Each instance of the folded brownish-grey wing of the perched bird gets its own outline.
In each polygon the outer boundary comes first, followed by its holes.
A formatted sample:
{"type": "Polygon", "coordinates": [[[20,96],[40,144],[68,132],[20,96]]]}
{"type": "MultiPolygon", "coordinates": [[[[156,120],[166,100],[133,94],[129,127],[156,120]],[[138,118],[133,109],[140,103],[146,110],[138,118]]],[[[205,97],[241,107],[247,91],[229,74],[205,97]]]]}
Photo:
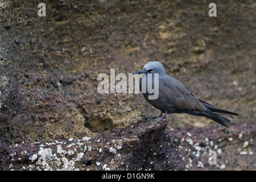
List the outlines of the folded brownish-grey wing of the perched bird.
{"type": "MultiPolygon", "coordinates": [[[[159,79],[160,80],[160,79],[159,79]]],[[[168,104],[176,106],[178,109],[205,111],[203,103],[183,85],[180,81],[170,76],[161,79],[159,90],[167,98],[168,104]]]]}

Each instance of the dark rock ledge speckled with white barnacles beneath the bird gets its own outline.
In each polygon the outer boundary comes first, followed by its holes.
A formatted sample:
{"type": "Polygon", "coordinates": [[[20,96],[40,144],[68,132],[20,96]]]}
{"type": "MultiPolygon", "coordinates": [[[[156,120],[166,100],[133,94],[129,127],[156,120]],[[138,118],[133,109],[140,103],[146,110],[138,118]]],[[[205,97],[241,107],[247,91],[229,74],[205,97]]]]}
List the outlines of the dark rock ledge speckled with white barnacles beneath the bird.
{"type": "Polygon", "coordinates": [[[1,143],[5,170],[202,170],[255,168],[255,127],[166,130],[159,118],[96,137],[1,143]],[[205,132],[206,131],[206,132],[205,132]],[[221,136],[221,137],[219,137],[221,136]],[[213,153],[214,152],[214,153],[213,153]],[[216,159],[213,160],[213,156],[216,159]],[[214,163],[215,161],[215,163],[214,163]]]}

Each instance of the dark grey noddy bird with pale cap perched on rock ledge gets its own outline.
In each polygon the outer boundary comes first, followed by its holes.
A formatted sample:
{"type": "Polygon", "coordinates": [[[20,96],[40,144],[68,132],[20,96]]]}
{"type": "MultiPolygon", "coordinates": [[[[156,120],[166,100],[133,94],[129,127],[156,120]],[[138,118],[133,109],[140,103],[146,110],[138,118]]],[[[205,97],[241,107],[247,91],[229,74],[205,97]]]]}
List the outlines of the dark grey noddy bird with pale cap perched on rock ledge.
{"type": "Polygon", "coordinates": [[[142,90],[142,86],[147,86],[148,74],[150,73],[152,74],[150,77],[152,85],[150,86],[154,89],[154,78],[156,77],[154,75],[158,73],[159,79],[156,80],[158,81],[159,86],[158,98],[151,100],[148,99],[148,96],[152,95],[152,92],[148,92],[148,86],[145,89],[146,92],[142,92],[142,94],[152,106],[161,111],[159,117],[162,117],[164,113],[162,121],[166,118],[167,113],[186,113],[206,117],[223,126],[229,127],[230,121],[226,117],[233,118],[232,115],[239,115],[227,110],[218,109],[208,102],[193,96],[193,94],[180,81],[166,75],[163,65],[158,61],[148,62],[144,65],[142,71],[134,72],[133,74],[135,73],[144,73],[142,78],[140,78],[140,90],[142,90]],[[146,79],[143,79],[143,77],[146,77],[146,79]],[[146,84],[143,84],[143,81],[145,80],[146,84]]]}

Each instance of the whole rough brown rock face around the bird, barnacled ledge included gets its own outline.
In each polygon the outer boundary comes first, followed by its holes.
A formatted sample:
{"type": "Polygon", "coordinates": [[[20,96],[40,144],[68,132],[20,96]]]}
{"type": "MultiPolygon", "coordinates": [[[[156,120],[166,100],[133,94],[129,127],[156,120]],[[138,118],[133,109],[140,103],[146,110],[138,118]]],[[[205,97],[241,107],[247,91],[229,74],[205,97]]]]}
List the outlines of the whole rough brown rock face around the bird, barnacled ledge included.
{"type": "Polygon", "coordinates": [[[0,169],[255,169],[253,1],[216,1],[217,17],[203,2],[45,3],[40,17],[36,1],[0,2],[0,169]],[[167,125],[141,94],[97,92],[99,73],[154,60],[241,117],[167,125]]]}

